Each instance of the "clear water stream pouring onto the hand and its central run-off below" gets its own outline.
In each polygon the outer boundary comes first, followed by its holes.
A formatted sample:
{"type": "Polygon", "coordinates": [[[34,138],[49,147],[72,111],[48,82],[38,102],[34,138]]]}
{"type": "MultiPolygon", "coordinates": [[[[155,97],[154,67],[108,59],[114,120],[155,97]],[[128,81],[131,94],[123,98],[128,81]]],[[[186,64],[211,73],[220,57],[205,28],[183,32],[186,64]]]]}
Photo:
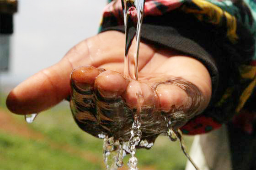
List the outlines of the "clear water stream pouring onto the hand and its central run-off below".
{"type": "MultiPolygon", "coordinates": [[[[125,30],[125,57],[124,57],[124,76],[138,80],[138,62],[139,62],[139,42],[140,31],[144,13],[144,0],[122,0],[123,17],[124,17],[124,30],[125,30]],[[136,27],[136,31],[135,31],[136,27]],[[128,52],[133,41],[133,37],[136,37],[136,50],[134,54],[134,71],[131,67],[131,61],[129,61],[128,52]]],[[[134,114],[133,125],[131,130],[131,137],[129,139],[129,147],[131,158],[128,161],[129,170],[139,170],[137,167],[138,160],[135,157],[136,145],[139,144],[141,139],[140,130],[140,108],[141,108],[141,95],[138,95],[137,112],[134,114]]]]}

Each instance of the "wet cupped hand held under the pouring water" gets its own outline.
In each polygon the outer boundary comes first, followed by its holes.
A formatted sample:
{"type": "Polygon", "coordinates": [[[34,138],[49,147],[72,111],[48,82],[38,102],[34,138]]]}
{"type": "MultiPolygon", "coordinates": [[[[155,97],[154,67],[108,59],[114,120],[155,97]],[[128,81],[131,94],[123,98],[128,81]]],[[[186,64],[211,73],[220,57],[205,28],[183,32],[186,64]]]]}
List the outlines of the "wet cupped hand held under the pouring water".
{"type": "Polygon", "coordinates": [[[123,76],[124,38],[120,32],[107,31],[80,42],[60,62],[14,88],[7,107],[17,114],[38,113],[67,98],[71,91],[71,109],[76,122],[85,124],[80,124],[83,130],[118,137],[124,127],[118,124],[132,122],[139,106],[138,93],[143,96],[144,135],[163,132],[163,115],[176,119],[175,128],[179,128],[203,112],[211,97],[211,79],[201,62],[142,42],[139,81],[135,82],[123,76]],[[147,123],[152,118],[159,121],[150,126],[147,123]]]}

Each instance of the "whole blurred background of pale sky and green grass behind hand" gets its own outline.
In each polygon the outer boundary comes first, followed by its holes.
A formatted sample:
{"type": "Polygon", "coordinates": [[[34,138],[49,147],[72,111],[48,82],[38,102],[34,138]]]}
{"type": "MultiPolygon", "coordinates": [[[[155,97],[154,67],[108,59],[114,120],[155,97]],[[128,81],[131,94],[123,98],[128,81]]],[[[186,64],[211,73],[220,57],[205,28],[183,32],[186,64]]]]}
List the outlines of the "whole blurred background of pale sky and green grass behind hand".
{"type": "MultiPolygon", "coordinates": [[[[58,62],[76,43],[96,35],[106,1],[18,1],[17,12],[11,15],[13,33],[0,34],[0,170],[105,169],[102,139],[76,126],[68,102],[27,124],[23,116],[7,110],[5,98],[17,84],[58,62]]],[[[192,137],[185,137],[187,148],[191,142],[192,137]]],[[[179,143],[165,136],[152,149],[140,149],[136,155],[140,170],[182,170],[186,164],[179,143]]],[[[121,169],[128,169],[128,157],[121,169]]]]}

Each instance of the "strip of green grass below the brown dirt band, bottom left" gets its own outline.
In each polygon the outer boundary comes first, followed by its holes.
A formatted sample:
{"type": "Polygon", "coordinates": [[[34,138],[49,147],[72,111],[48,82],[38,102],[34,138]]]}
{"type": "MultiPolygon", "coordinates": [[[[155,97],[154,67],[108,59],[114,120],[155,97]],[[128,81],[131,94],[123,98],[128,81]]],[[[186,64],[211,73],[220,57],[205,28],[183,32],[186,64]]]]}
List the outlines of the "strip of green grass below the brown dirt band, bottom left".
{"type": "Polygon", "coordinates": [[[64,150],[53,149],[48,144],[0,132],[1,170],[83,170],[101,169],[64,150]]]}

